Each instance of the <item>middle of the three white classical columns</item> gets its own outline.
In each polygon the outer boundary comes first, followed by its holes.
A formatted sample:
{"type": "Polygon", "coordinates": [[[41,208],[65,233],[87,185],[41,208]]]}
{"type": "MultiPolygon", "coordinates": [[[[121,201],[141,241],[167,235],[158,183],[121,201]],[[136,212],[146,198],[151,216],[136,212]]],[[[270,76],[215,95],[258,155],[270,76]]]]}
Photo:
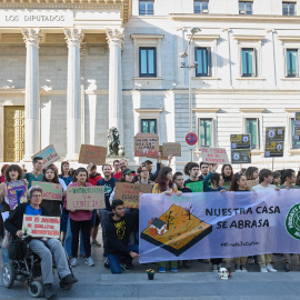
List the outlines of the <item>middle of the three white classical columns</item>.
{"type": "Polygon", "coordinates": [[[64,29],[68,43],[68,87],[67,87],[67,156],[70,161],[79,158],[81,144],[81,98],[80,98],[80,29],[64,29]]]}

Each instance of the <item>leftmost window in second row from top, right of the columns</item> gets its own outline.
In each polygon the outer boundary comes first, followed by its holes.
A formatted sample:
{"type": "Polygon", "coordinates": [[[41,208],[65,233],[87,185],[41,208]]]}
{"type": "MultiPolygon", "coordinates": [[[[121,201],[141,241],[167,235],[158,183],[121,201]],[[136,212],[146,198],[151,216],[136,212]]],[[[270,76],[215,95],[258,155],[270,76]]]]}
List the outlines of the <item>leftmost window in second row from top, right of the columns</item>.
{"type": "Polygon", "coordinates": [[[157,77],[157,48],[140,47],[140,77],[157,77]]]}

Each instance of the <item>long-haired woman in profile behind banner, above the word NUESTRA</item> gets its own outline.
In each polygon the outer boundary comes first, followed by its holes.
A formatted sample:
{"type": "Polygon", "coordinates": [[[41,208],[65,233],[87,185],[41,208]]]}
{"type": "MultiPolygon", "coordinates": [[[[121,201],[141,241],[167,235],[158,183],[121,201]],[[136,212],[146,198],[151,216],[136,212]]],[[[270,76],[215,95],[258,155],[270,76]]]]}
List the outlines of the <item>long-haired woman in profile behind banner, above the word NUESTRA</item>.
{"type": "MultiPolygon", "coordinates": [[[[230,191],[249,191],[247,177],[242,173],[236,173],[230,184],[230,191]]],[[[253,257],[249,257],[249,260],[253,260],[253,257]]],[[[234,258],[236,272],[248,272],[246,269],[247,257],[234,258]]]]}

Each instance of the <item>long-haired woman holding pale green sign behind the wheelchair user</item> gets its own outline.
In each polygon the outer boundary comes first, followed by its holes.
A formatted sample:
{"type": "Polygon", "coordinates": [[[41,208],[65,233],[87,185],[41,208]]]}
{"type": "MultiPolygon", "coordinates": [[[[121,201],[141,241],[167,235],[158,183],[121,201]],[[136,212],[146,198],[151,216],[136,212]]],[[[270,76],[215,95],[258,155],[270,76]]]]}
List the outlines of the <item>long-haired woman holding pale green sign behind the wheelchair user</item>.
{"type": "MultiPolygon", "coordinates": [[[[58,179],[58,173],[57,169],[53,168],[53,166],[48,166],[43,170],[43,177],[42,177],[43,182],[50,182],[50,183],[59,183],[58,179]]],[[[62,190],[62,187],[61,187],[62,190]]],[[[47,208],[51,217],[61,217],[61,204],[62,201],[53,201],[53,200],[42,200],[43,207],[47,208]]]]}

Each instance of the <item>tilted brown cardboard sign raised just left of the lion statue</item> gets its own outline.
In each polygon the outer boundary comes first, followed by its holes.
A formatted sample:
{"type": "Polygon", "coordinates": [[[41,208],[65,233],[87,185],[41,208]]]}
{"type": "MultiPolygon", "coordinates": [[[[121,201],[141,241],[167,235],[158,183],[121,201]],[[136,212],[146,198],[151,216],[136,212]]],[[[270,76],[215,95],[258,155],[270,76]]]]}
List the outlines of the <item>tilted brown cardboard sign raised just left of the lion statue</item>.
{"type": "Polygon", "coordinates": [[[93,144],[81,144],[79,153],[80,163],[92,162],[96,166],[102,166],[107,159],[107,147],[93,146],[93,144]]]}

